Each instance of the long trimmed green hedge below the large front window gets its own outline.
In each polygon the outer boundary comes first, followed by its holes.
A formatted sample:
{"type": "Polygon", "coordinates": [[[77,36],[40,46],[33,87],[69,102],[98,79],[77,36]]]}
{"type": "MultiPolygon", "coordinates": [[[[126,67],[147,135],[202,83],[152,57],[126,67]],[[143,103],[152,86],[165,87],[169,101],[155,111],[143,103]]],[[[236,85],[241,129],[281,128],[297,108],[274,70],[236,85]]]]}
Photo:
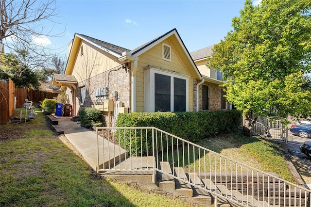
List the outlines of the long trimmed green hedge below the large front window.
{"type": "MultiPolygon", "coordinates": [[[[199,112],[132,112],[118,114],[117,127],[156,127],[175,136],[196,142],[204,137],[236,130],[242,122],[240,111],[199,111],[199,112]]],[[[149,133],[149,132],[148,132],[149,133]]],[[[139,137],[140,135],[138,135],[139,137]]],[[[145,135],[142,135],[145,136],[145,135]]],[[[129,134],[121,135],[126,143],[134,145],[129,134]]],[[[148,135],[149,137],[149,135],[148,135]]],[[[121,143],[124,143],[123,141],[121,143]]],[[[147,146],[146,143],[142,143],[147,146]]],[[[169,144],[170,145],[170,144],[169,144]]],[[[129,144],[122,146],[129,148],[129,144]]],[[[148,145],[148,151],[151,151],[148,145]]],[[[169,146],[170,147],[170,146],[169,146]]],[[[140,149],[140,146],[138,146],[140,149]]],[[[144,147],[142,147],[144,148],[144,147]]],[[[143,150],[145,151],[145,150],[143,150]]],[[[145,153],[138,150],[133,154],[145,153]]]]}

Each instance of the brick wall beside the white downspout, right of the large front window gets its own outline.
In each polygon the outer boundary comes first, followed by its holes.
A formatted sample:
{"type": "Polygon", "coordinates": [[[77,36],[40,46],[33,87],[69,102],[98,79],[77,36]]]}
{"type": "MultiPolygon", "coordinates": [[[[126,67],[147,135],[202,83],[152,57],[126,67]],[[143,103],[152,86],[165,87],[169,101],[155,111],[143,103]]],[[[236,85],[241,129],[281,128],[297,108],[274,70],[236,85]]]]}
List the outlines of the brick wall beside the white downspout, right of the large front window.
{"type": "MultiPolygon", "coordinates": [[[[196,111],[196,85],[198,84],[199,80],[194,80],[193,84],[193,111],[196,111]]],[[[222,89],[219,87],[218,84],[215,83],[209,83],[209,82],[204,82],[202,85],[207,85],[208,86],[208,98],[209,98],[209,103],[208,103],[208,111],[218,111],[218,110],[224,110],[221,108],[221,91],[222,89]]],[[[199,111],[202,110],[202,85],[199,86],[199,111]]],[[[226,106],[226,105],[225,105],[226,106]]]]}

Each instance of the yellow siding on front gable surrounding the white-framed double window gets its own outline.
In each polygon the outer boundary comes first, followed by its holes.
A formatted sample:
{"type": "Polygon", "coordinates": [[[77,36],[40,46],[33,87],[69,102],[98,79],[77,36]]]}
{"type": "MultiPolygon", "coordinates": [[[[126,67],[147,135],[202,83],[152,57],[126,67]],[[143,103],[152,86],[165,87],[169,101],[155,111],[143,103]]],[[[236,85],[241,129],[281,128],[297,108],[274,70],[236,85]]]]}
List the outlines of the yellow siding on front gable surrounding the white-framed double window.
{"type": "MultiPolygon", "coordinates": [[[[168,40],[163,41],[170,45],[168,40]]],[[[176,73],[189,75],[182,60],[179,59],[176,52],[171,49],[171,62],[162,59],[162,43],[139,55],[138,69],[136,74],[136,111],[144,111],[144,70],[143,68],[150,65],[167,70],[172,70],[176,73]]],[[[189,111],[193,110],[193,80],[189,77],[189,111]]]]}

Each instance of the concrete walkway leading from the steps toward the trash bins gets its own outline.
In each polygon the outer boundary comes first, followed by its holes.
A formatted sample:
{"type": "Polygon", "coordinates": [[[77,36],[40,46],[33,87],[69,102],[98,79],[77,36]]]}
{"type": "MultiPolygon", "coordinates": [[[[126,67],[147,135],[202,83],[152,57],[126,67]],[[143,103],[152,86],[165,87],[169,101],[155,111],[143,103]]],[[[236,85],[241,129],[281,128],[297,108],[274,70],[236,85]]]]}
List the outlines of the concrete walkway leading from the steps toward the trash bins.
{"type": "MultiPolygon", "coordinates": [[[[80,122],[73,122],[71,117],[55,117],[58,121],[59,127],[64,130],[64,135],[68,141],[81,153],[86,162],[92,167],[94,171],[98,170],[98,162],[100,168],[108,167],[108,160],[113,163],[116,157],[116,151],[119,152],[119,146],[108,142],[107,140],[99,137],[94,131],[80,126],[80,122]],[[98,147],[97,147],[98,146],[98,147]]],[[[125,150],[121,149],[121,154],[125,150]]]]}

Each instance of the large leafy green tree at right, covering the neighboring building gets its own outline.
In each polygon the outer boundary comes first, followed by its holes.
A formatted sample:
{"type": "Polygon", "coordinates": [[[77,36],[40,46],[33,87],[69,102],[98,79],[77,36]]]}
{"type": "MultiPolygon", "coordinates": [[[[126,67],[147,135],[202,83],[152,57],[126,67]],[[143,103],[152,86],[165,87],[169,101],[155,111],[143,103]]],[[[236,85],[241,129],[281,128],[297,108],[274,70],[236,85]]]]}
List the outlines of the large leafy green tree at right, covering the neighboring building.
{"type": "Polygon", "coordinates": [[[311,71],[310,11],[309,0],[246,0],[233,31],[214,46],[207,66],[223,72],[226,100],[242,111],[245,134],[258,116],[311,115],[303,76],[311,71]]]}

